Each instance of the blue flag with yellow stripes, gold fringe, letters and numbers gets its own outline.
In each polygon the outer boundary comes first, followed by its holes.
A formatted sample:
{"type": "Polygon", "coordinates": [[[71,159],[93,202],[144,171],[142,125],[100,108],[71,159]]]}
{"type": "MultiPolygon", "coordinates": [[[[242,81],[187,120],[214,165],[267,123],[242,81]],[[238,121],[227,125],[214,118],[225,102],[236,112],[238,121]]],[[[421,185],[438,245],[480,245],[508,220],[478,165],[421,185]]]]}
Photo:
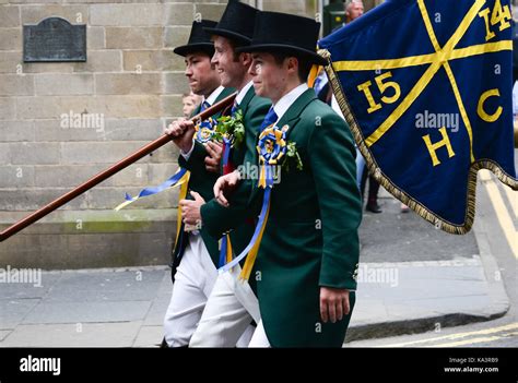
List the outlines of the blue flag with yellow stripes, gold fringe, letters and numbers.
{"type": "Polygon", "coordinates": [[[509,0],[389,0],[319,41],[373,176],[451,234],[471,229],[476,171],[518,190],[509,0]]]}

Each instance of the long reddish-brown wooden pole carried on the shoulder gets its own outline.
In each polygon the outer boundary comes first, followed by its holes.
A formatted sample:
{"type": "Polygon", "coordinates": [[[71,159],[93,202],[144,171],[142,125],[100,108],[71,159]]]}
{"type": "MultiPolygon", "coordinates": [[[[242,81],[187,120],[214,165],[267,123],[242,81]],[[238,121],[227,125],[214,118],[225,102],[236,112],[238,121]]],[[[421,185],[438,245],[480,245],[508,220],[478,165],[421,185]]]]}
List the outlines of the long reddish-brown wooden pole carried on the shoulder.
{"type": "MultiPolygon", "coordinates": [[[[192,117],[191,121],[198,120],[205,120],[209,117],[215,115],[220,110],[225,109],[226,107],[231,106],[234,103],[234,98],[236,97],[236,93],[229,95],[228,97],[222,99],[220,103],[214,104],[210,108],[203,110],[201,113],[192,117]]],[[[109,177],[114,176],[115,173],[119,172],[120,170],[127,168],[131,164],[138,161],[140,158],[146,156],[151,152],[156,151],[158,147],[168,143],[173,137],[170,135],[164,134],[156,139],[155,141],[149,143],[148,145],[141,147],[136,153],[131,154],[130,156],[126,157],[125,159],[118,161],[117,164],[113,165],[108,169],[99,172],[97,176],[94,176],[86,182],[80,184],[75,189],[69,191],[68,193],[61,195],[60,198],[54,200],[46,206],[39,208],[38,211],[32,213],[31,215],[26,216],[25,218],[19,220],[17,223],[13,224],[12,226],[8,227],[5,230],[0,232],[0,242],[4,241],[9,237],[15,235],[20,230],[23,230],[27,226],[34,224],[35,222],[42,219],[47,214],[54,212],[58,207],[61,207],[66,203],[72,201],[78,195],[83,194],[85,191],[92,189],[96,184],[103,182],[104,180],[108,179],[109,177]]]]}

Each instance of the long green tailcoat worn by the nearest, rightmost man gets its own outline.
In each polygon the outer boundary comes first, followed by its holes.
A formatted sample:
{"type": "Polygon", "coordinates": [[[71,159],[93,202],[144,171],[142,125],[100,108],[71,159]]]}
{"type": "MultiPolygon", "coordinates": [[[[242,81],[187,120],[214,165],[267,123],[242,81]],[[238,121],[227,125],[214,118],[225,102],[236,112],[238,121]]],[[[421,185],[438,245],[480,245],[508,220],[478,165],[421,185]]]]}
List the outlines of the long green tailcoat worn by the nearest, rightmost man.
{"type": "MultiPolygon", "coordinates": [[[[346,123],[316,98],[314,89],[289,108],[278,123],[285,124],[286,139],[296,143],[304,168],[291,164],[271,193],[255,265],[261,318],[273,347],[341,347],[351,314],[323,324],[319,296],[321,286],[356,288],[362,210],[354,144],[346,123]]],[[[254,154],[257,164],[257,151],[254,154]]],[[[257,213],[263,193],[256,185],[257,181],[245,181],[239,189],[250,192],[243,208],[257,213]]],[[[232,225],[231,218],[211,232],[226,225],[232,225]]],[[[350,300],[352,311],[354,292],[350,300]]]]}

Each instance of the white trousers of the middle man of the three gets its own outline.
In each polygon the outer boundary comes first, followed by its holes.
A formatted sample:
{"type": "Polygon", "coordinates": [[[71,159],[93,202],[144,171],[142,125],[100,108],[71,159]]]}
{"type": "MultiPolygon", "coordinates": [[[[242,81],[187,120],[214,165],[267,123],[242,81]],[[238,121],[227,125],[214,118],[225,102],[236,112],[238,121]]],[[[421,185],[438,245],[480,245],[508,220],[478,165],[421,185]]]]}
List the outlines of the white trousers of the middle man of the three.
{"type": "Polygon", "coordinates": [[[250,323],[260,321],[259,302],[250,285],[237,279],[239,273],[237,265],[217,276],[189,347],[234,347],[239,337],[239,344],[251,338],[250,323]]]}

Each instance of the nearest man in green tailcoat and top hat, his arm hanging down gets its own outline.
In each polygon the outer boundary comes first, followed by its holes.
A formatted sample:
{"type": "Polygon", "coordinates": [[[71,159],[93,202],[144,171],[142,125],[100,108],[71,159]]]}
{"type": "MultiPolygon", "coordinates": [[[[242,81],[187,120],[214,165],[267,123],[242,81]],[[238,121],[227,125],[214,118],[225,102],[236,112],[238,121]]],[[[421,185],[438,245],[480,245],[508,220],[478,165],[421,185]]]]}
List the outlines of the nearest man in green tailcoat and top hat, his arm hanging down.
{"type": "MultiPolygon", "coordinates": [[[[355,149],[346,123],[306,85],[311,64],[326,64],[315,52],[318,31],[310,19],[261,12],[250,46],[240,49],[252,53],[256,93],[273,104],[256,164],[262,167],[283,143],[292,148],[281,158],[289,170],[283,166],[271,189],[256,261],[261,322],[251,347],[340,347],[355,302],[362,217],[355,149]],[[283,131],[284,141],[268,142],[268,132],[283,131]]],[[[215,196],[232,206],[231,191],[251,184],[248,208],[257,214],[264,189],[240,178],[239,172],[220,178],[215,196]]],[[[228,224],[207,229],[217,237],[228,224]]]]}

